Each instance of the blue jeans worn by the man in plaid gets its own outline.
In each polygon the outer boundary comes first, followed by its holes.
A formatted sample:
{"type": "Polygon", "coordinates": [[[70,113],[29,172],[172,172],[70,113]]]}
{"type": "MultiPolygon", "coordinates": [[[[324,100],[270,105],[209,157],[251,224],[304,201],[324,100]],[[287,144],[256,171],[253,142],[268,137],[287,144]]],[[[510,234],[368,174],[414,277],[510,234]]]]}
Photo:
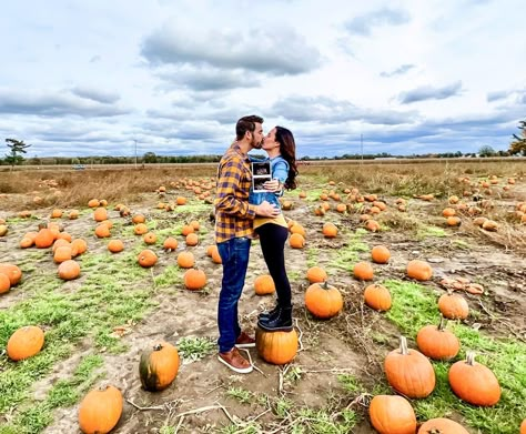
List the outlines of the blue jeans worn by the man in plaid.
{"type": "Polygon", "coordinates": [[[251,240],[234,238],[218,244],[218,251],[223,261],[223,280],[218,306],[218,341],[220,352],[225,353],[235,345],[241,334],[237,321],[237,302],[245,284],[246,268],[249,266],[251,240]]]}

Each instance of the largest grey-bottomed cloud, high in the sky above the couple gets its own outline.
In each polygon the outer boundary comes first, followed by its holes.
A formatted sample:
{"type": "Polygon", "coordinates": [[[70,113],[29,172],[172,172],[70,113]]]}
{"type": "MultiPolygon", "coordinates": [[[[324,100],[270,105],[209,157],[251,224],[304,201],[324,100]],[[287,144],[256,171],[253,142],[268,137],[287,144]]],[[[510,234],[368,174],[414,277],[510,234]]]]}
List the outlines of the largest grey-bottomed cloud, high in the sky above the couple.
{"type": "Polygon", "coordinates": [[[195,31],[183,18],[166,22],[145,38],[141,54],[153,65],[186,64],[299,74],[320,64],[320,53],[294,29],[235,26],[195,31]],[[191,36],[191,37],[190,37],[191,36]]]}

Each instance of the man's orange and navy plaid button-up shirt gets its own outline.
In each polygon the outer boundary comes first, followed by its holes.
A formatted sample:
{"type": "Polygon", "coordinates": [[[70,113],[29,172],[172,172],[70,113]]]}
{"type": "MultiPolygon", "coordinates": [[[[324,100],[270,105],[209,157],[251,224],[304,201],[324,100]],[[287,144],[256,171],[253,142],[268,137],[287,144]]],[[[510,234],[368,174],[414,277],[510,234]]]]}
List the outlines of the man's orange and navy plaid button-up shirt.
{"type": "Polygon", "coordinates": [[[256,205],[249,204],[252,183],[250,160],[239,145],[231,147],[218,168],[215,242],[253,235],[256,205]]]}

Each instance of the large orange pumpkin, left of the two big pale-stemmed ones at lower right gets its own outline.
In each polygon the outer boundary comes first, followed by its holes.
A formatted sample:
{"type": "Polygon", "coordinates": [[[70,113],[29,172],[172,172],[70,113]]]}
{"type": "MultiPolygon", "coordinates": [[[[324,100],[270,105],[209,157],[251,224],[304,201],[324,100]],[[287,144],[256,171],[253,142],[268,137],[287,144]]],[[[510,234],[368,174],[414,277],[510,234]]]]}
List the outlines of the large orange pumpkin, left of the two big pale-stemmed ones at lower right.
{"type": "Polygon", "coordinates": [[[385,357],[384,370],[391,386],[405,396],[426,397],[435,388],[433,365],[421,352],[407,349],[405,336],[399,337],[399,349],[385,357]]]}

